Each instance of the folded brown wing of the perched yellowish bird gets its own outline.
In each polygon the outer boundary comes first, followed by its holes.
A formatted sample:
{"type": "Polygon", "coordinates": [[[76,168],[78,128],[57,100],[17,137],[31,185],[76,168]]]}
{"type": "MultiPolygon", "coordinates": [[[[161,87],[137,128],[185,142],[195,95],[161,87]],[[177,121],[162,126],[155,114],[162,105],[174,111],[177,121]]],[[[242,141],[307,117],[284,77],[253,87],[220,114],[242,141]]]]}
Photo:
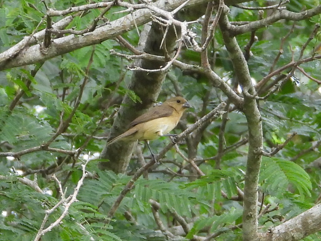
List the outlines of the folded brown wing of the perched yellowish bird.
{"type": "Polygon", "coordinates": [[[130,123],[130,126],[135,126],[139,123],[143,123],[146,121],[151,121],[160,117],[167,117],[173,113],[174,109],[169,105],[160,105],[151,108],[145,114],[137,117],[134,121],[130,123]]]}

